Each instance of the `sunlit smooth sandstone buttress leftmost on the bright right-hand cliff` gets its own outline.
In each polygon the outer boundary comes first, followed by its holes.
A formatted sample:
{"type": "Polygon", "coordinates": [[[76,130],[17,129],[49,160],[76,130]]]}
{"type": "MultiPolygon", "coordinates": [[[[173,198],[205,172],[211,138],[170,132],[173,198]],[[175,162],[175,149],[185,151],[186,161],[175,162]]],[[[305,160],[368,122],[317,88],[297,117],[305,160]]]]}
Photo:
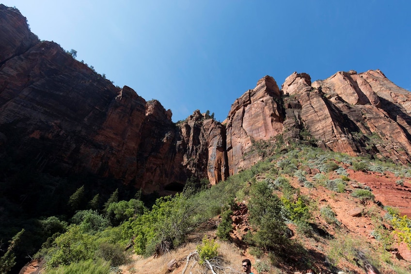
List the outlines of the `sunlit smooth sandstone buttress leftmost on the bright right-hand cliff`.
{"type": "Polygon", "coordinates": [[[275,80],[266,76],[232,105],[227,119],[227,158],[229,174],[260,160],[253,141],[269,140],[283,131],[284,113],[281,91],[275,80]]]}

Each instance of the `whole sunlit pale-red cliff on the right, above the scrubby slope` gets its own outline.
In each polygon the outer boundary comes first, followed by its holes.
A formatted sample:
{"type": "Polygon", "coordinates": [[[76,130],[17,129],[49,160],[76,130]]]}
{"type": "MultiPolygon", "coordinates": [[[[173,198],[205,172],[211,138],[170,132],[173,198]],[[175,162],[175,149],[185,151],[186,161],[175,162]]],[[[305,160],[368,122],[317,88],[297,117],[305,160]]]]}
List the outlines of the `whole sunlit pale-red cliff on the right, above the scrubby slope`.
{"type": "Polygon", "coordinates": [[[259,160],[250,153],[253,140],[271,140],[279,134],[285,143],[308,135],[311,143],[324,149],[408,163],[410,101],[410,92],[379,70],[337,72],[314,83],[308,74],[294,72],[281,90],[266,76],[231,107],[227,121],[230,174],[259,160]]]}

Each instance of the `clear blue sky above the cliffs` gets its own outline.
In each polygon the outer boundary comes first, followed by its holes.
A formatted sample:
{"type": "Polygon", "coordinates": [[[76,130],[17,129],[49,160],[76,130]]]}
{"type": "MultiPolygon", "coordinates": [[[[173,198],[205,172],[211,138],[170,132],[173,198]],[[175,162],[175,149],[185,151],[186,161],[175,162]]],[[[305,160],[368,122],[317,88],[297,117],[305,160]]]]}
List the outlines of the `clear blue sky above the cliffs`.
{"type": "Polygon", "coordinates": [[[411,90],[409,0],[2,0],[41,40],[158,99],[173,121],[199,109],[221,122],[270,75],[312,81],[380,69],[411,90]]]}

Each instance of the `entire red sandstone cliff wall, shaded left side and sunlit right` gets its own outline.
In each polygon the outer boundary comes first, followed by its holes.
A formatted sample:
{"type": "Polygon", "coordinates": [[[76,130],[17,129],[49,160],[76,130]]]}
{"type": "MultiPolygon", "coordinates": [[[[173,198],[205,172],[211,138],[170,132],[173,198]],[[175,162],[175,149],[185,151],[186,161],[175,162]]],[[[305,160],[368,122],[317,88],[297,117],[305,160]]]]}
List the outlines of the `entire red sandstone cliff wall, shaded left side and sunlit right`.
{"type": "Polygon", "coordinates": [[[223,124],[195,111],[175,125],[170,110],[115,87],[54,42],[39,41],[18,10],[0,5],[0,155],[65,176],[111,177],[144,192],[212,184],[261,159],[255,142],[304,142],[411,161],[410,92],[379,70],[311,82],[269,76],[231,106],[223,124]],[[28,157],[30,156],[30,157],[28,157]]]}

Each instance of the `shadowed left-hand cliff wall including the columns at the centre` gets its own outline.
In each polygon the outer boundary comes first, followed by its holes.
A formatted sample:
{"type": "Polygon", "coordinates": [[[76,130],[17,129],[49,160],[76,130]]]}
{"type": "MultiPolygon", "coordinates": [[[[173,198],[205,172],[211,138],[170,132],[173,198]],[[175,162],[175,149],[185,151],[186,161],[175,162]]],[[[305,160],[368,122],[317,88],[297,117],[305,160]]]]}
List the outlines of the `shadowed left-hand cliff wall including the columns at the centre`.
{"type": "Polygon", "coordinates": [[[61,176],[112,177],[144,192],[181,191],[191,176],[226,178],[225,132],[199,112],[172,113],[115,87],[0,5],[0,154],[61,176]]]}

